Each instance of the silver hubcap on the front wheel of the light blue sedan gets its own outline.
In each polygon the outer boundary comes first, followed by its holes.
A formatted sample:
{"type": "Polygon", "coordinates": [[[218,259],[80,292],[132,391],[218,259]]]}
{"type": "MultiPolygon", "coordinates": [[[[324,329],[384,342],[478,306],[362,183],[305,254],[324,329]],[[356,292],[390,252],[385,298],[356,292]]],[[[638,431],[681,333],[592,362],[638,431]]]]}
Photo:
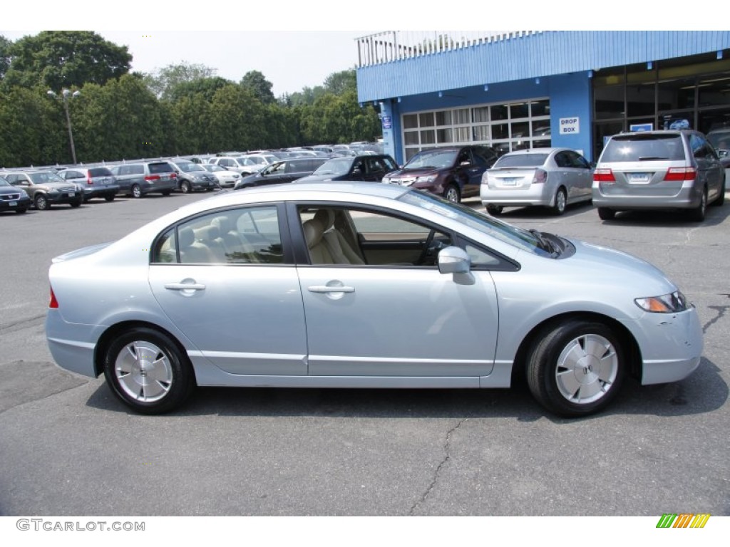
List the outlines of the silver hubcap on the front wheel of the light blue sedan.
{"type": "Polygon", "coordinates": [[[558,357],[555,379],[566,400],[583,405],[604,397],[617,374],[618,355],[610,341],[586,334],[565,346],[558,357]]]}

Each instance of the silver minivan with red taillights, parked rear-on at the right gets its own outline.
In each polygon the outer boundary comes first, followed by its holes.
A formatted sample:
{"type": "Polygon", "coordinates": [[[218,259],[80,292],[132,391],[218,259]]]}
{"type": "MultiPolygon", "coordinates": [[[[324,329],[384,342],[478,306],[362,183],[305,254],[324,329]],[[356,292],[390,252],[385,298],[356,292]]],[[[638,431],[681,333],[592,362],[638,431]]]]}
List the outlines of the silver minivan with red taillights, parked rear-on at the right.
{"type": "Polygon", "coordinates": [[[593,206],[602,220],[632,209],[685,209],[704,220],[722,205],[725,170],[699,131],[645,131],[612,136],[593,171],[593,206]]]}

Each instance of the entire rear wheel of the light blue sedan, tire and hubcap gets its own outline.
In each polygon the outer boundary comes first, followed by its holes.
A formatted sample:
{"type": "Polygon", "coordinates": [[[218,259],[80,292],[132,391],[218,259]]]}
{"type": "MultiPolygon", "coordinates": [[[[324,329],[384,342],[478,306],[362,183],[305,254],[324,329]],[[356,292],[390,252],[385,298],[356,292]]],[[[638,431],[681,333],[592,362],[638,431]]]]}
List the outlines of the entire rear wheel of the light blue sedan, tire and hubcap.
{"type": "Polygon", "coordinates": [[[148,327],[114,338],[104,354],[104,376],[114,395],[141,414],[172,411],[196,387],[188,357],[172,338],[148,327]]]}

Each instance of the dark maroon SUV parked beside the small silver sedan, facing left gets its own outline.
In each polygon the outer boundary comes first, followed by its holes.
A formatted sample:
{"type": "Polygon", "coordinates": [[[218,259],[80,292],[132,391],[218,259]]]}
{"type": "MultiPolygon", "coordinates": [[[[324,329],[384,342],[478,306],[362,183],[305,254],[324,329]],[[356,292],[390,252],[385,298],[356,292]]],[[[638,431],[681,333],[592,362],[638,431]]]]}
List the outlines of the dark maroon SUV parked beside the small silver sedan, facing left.
{"type": "Polygon", "coordinates": [[[412,186],[461,201],[479,195],[482,174],[497,160],[491,147],[466,146],[428,148],[413,156],[403,168],[391,171],[383,182],[412,186]]]}

